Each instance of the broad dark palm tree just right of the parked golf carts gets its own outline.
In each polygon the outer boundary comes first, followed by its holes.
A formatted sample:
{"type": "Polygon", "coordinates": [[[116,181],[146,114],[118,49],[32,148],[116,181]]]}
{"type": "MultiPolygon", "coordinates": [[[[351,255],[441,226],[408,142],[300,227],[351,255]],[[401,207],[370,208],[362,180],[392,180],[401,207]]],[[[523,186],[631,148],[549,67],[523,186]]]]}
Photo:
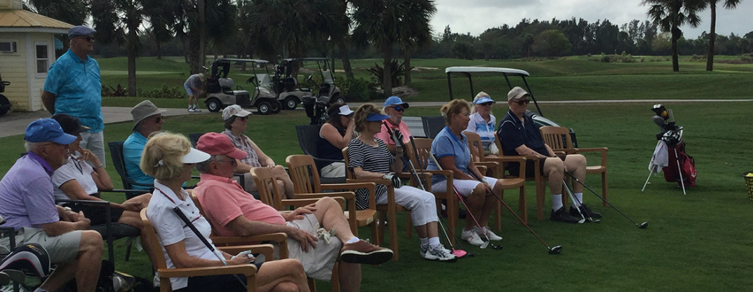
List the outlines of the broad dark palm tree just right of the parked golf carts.
{"type": "MultiPolygon", "coordinates": [[[[392,95],[392,50],[419,44],[422,32],[436,8],[432,0],[352,0],[355,23],[352,40],[362,47],[373,45],[383,56],[382,89],[392,95]]],[[[428,30],[429,36],[431,31],[428,30]]]]}

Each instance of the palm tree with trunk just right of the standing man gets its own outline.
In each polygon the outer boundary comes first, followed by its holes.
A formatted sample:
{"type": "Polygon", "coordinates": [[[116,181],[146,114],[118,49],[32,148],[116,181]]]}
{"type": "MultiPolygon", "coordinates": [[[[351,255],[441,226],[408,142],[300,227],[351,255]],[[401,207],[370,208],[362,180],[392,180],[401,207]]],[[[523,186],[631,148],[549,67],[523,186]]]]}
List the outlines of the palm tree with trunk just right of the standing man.
{"type": "Polygon", "coordinates": [[[98,0],[92,2],[97,39],[125,44],[128,56],[128,96],[136,96],[136,57],[142,44],[139,26],[144,20],[142,0],[98,0]]]}

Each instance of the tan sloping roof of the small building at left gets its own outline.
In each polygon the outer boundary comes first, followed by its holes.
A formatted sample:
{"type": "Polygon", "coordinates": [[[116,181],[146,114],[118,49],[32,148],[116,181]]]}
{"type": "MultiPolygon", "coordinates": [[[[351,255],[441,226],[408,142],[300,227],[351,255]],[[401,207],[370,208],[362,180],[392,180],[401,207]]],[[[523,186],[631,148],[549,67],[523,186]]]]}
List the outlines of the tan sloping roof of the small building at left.
{"type": "Polygon", "coordinates": [[[68,33],[73,25],[23,10],[0,10],[0,32],[68,33]]]}

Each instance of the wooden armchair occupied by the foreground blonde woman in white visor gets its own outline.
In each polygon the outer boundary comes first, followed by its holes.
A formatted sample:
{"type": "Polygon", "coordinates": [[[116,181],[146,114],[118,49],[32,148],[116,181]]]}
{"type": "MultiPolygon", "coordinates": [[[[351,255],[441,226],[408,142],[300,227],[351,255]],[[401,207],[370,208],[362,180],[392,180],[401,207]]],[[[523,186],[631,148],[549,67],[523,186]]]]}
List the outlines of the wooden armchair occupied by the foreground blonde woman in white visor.
{"type": "MultiPolygon", "coordinates": [[[[145,233],[148,236],[148,240],[152,243],[152,251],[154,252],[154,257],[156,257],[155,260],[157,260],[157,275],[160,277],[160,292],[169,292],[172,290],[170,278],[232,274],[245,275],[248,292],[256,291],[256,266],[252,264],[168,269],[165,255],[162,251],[162,245],[160,245],[160,240],[157,239],[157,233],[154,232],[154,228],[151,227],[149,219],[146,218],[146,208],[142,209],[141,218],[144,222],[145,233]]],[[[264,257],[272,258],[274,248],[272,245],[243,245],[230,248],[230,250],[224,248],[222,250],[231,254],[236,254],[239,251],[249,249],[252,249],[253,251],[261,251],[261,254],[264,254],[264,257]]]]}

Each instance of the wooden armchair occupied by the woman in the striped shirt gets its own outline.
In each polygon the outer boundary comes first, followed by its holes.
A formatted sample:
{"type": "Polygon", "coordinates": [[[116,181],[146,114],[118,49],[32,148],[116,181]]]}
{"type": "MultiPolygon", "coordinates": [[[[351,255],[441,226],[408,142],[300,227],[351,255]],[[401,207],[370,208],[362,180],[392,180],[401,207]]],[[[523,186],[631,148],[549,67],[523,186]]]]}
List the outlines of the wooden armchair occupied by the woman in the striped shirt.
{"type": "MultiPolygon", "coordinates": [[[[395,203],[395,188],[392,186],[392,182],[389,181],[389,179],[356,179],[355,174],[349,170],[350,161],[348,159],[348,147],[343,148],[343,158],[345,158],[345,167],[346,167],[346,182],[351,183],[359,183],[359,182],[373,182],[377,185],[385,185],[387,187],[387,203],[377,205],[376,203],[376,195],[369,196],[369,208],[371,206],[376,206],[377,211],[380,212],[379,216],[379,223],[377,230],[378,230],[378,236],[379,236],[379,242],[382,242],[382,239],[384,237],[384,225],[386,224],[385,218],[389,220],[389,248],[392,249],[393,256],[392,260],[398,261],[398,215],[397,212],[410,212],[409,209],[406,209],[404,206],[400,206],[397,203],[395,203]]],[[[376,193],[374,193],[376,194],[376,193]]],[[[410,215],[408,217],[407,226],[405,227],[406,236],[410,237],[410,215]]]]}

